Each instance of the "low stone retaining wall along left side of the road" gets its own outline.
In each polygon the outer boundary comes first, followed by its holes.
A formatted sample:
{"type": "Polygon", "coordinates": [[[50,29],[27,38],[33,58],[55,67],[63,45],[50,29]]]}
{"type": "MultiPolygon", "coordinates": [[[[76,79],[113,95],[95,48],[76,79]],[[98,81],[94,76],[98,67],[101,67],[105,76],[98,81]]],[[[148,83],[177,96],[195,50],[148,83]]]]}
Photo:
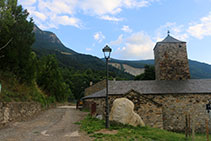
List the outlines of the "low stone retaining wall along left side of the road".
{"type": "Polygon", "coordinates": [[[0,102],[0,127],[13,122],[23,121],[41,111],[39,103],[31,102],[0,102]]]}

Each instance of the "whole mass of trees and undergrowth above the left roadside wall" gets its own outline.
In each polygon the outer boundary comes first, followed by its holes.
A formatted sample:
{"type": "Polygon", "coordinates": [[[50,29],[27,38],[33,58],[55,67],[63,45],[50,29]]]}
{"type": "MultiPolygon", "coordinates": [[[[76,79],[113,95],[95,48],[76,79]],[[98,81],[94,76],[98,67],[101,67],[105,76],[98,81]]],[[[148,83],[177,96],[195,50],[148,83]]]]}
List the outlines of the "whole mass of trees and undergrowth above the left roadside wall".
{"type": "Polygon", "coordinates": [[[0,50],[0,56],[4,56],[0,59],[0,71],[13,75],[1,78],[3,85],[6,84],[1,100],[39,101],[43,104],[66,101],[72,93],[63,80],[57,60],[53,56],[39,60],[31,50],[35,39],[34,23],[28,15],[27,10],[17,5],[17,0],[0,2],[0,47],[7,44],[0,50]],[[41,94],[37,83],[48,95],[41,94]]]}

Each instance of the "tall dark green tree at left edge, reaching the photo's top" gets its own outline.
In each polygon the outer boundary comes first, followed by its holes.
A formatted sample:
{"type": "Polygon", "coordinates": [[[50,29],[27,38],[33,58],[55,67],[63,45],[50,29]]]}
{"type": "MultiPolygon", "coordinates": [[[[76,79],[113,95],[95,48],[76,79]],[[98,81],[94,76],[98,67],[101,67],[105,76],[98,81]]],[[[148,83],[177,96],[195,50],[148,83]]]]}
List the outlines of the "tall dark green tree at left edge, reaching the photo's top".
{"type": "MultiPolygon", "coordinates": [[[[31,82],[27,72],[31,71],[31,46],[34,42],[33,20],[27,20],[29,13],[17,5],[17,0],[0,2],[0,47],[4,55],[0,68],[16,74],[23,82],[31,82]],[[8,41],[12,41],[8,43],[8,41]]],[[[35,70],[34,70],[35,71],[35,70]]]]}

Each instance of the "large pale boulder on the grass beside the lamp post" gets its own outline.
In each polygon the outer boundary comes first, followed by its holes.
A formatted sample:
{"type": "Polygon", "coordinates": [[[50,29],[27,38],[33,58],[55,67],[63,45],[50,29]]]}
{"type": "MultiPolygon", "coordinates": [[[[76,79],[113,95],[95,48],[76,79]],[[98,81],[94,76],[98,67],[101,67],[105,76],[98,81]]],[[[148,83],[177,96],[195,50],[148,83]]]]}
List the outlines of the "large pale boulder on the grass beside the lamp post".
{"type": "Polygon", "coordinates": [[[132,101],[127,98],[118,98],[113,102],[109,120],[132,126],[145,126],[141,117],[133,109],[134,104],[132,101]]]}

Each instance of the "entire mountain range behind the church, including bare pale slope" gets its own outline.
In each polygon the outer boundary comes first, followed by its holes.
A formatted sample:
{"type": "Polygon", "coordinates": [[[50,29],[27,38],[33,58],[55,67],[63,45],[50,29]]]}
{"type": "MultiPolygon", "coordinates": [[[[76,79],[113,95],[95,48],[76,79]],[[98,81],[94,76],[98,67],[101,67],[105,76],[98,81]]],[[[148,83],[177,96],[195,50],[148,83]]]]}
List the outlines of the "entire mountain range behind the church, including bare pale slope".
{"type": "MultiPolygon", "coordinates": [[[[34,26],[34,33],[36,41],[33,44],[32,49],[38,56],[54,54],[61,66],[77,70],[89,68],[96,71],[105,70],[104,59],[77,53],[72,49],[65,47],[54,33],[42,31],[36,25],[34,26]]],[[[154,65],[154,60],[128,61],[111,59],[109,63],[113,66],[110,67],[110,71],[115,72],[120,77],[132,79],[132,75],[135,76],[144,71],[143,68],[146,64],[154,65]]],[[[211,65],[189,60],[189,66],[191,78],[211,78],[211,65]]]]}

